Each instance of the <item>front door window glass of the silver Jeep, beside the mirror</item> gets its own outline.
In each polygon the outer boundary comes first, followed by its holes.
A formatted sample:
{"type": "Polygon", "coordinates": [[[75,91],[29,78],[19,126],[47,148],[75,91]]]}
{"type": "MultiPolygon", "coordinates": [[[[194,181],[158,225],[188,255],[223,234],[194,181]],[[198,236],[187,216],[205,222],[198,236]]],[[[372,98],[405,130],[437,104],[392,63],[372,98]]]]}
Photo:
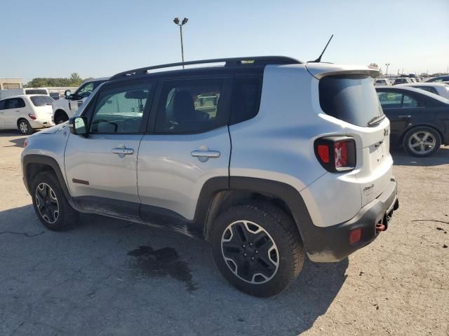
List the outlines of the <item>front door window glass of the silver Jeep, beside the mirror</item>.
{"type": "Polygon", "coordinates": [[[93,111],[91,133],[138,133],[150,87],[100,93],[93,111]]]}

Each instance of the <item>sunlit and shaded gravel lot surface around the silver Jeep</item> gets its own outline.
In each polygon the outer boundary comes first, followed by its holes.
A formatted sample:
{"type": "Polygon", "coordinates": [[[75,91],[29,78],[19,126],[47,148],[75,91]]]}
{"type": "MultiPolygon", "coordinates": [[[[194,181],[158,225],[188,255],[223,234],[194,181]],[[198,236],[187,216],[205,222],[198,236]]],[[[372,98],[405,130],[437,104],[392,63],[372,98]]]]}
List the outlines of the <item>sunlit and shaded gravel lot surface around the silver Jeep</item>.
{"type": "Polygon", "coordinates": [[[208,244],[100,216],[43,228],[22,184],[23,137],[0,132],[0,335],[448,335],[449,148],[393,153],[400,208],[342,262],[292,288],[239,293],[208,244]]]}

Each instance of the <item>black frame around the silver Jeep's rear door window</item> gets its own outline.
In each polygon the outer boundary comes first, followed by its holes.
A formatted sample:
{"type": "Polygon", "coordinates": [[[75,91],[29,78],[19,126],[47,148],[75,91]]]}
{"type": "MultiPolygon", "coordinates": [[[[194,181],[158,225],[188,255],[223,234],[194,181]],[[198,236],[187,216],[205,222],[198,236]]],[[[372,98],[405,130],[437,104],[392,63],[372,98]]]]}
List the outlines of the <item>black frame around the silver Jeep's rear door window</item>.
{"type": "Polygon", "coordinates": [[[162,78],[158,81],[158,85],[156,88],[156,92],[154,95],[154,102],[152,104],[152,108],[149,113],[149,123],[147,126],[147,131],[145,134],[152,135],[188,135],[188,134],[201,134],[211,132],[213,130],[219,130],[222,127],[229,126],[229,118],[230,118],[230,105],[231,105],[231,93],[232,93],[232,79],[233,75],[210,75],[210,76],[186,76],[186,77],[170,77],[170,78],[162,78]],[[227,120],[227,123],[224,125],[219,125],[217,127],[213,127],[208,130],[199,130],[194,132],[156,132],[156,118],[157,118],[157,110],[159,107],[159,102],[161,100],[161,93],[163,89],[163,85],[165,83],[170,82],[182,82],[187,80],[223,80],[221,99],[224,99],[225,102],[222,102],[222,109],[224,110],[225,115],[222,117],[223,120],[227,120]]]}

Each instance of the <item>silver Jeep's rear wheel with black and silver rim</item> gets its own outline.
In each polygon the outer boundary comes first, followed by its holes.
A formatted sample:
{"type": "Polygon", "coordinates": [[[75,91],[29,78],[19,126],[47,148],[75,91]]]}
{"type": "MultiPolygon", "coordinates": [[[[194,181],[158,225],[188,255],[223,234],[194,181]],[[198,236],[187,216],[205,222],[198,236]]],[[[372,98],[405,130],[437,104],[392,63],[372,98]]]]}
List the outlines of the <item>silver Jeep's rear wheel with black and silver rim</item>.
{"type": "Polygon", "coordinates": [[[268,202],[230,207],[218,216],[210,240],[223,276],[237,289],[257,297],[286,289],[304,263],[304,248],[293,219],[268,202]]]}

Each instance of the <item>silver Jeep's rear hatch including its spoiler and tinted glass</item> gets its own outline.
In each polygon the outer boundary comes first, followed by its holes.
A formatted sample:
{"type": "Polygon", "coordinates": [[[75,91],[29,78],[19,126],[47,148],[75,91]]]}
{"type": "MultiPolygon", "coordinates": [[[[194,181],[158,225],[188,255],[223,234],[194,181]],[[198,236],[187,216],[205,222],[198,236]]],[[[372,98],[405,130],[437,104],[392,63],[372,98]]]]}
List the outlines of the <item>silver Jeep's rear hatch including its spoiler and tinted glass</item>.
{"type": "Polygon", "coordinates": [[[307,64],[307,70],[319,79],[321,109],[336,118],[346,135],[356,141],[356,169],[352,173],[360,184],[364,206],[387,188],[392,177],[389,120],[370,76],[376,71],[330,64],[312,66],[314,69],[307,64]]]}

